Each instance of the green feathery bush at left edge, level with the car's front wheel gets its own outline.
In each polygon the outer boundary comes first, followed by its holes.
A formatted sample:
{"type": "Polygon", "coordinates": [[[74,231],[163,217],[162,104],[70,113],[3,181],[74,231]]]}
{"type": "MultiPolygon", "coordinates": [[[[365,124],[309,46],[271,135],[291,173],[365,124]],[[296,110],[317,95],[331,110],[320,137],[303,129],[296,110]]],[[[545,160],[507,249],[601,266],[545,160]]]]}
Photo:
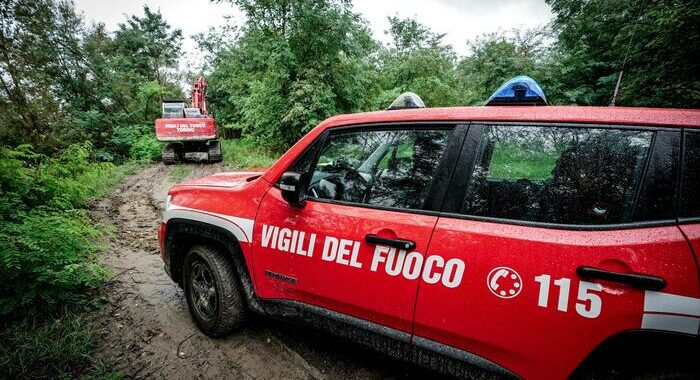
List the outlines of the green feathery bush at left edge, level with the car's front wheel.
{"type": "Polygon", "coordinates": [[[0,317],[89,303],[107,276],[96,260],[99,237],[81,210],[30,212],[0,224],[0,317]]]}

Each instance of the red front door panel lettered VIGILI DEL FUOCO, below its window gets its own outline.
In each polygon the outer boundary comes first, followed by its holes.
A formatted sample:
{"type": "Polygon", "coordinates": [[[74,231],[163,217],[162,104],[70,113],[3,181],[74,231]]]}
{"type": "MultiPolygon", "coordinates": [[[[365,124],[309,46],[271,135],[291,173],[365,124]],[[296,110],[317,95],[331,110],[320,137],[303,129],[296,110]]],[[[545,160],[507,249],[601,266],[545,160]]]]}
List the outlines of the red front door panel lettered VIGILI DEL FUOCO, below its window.
{"type": "Polygon", "coordinates": [[[415,250],[426,252],[436,216],[322,202],[294,208],[282,199],[279,189],[273,188],[263,199],[257,220],[269,221],[256,223],[253,232],[256,289],[261,297],[301,301],[411,332],[418,281],[388,276],[383,270],[372,271],[374,246],[364,243],[364,237],[368,233],[394,238],[411,236],[416,242],[415,250]],[[273,248],[272,244],[265,244],[264,225],[303,231],[304,238],[297,241],[303,250],[313,239],[312,256],[283,252],[279,245],[273,248]],[[323,244],[329,236],[338,239],[338,248],[334,256],[329,250],[324,258],[323,244]],[[265,276],[266,270],[299,281],[280,282],[265,276]]]}

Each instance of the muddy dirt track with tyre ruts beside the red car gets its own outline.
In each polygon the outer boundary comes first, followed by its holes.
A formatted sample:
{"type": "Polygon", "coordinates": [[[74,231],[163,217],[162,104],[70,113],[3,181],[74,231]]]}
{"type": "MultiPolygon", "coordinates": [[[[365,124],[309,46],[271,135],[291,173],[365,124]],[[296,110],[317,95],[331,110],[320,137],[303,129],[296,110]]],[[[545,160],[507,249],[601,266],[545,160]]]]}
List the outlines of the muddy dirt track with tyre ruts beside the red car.
{"type": "Polygon", "coordinates": [[[200,333],[183,292],[167,277],[156,230],[167,190],[220,165],[155,165],[127,178],[96,204],[93,217],[113,231],[104,260],[114,268],[96,359],[127,379],[435,378],[410,364],[313,329],[256,316],[224,339],[200,333]]]}

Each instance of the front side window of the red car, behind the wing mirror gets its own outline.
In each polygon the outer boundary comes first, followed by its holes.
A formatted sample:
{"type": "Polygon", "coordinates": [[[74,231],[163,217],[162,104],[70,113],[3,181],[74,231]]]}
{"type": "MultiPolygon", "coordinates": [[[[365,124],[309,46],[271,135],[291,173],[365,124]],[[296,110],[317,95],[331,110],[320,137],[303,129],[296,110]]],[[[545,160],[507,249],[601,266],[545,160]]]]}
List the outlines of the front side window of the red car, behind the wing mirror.
{"type": "Polygon", "coordinates": [[[326,140],[311,198],[421,209],[451,130],[356,131],[326,140]]]}

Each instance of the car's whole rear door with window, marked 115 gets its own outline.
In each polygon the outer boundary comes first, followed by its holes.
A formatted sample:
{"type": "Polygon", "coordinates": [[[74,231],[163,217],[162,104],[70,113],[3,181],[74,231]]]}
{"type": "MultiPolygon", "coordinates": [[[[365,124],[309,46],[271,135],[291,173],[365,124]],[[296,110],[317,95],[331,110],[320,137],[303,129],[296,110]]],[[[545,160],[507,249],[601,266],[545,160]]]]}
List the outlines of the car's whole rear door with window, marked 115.
{"type": "Polygon", "coordinates": [[[617,332],[697,332],[664,314],[698,294],[678,149],[677,131],[472,124],[429,247],[466,269],[420,287],[414,342],[563,378],[617,332]]]}

